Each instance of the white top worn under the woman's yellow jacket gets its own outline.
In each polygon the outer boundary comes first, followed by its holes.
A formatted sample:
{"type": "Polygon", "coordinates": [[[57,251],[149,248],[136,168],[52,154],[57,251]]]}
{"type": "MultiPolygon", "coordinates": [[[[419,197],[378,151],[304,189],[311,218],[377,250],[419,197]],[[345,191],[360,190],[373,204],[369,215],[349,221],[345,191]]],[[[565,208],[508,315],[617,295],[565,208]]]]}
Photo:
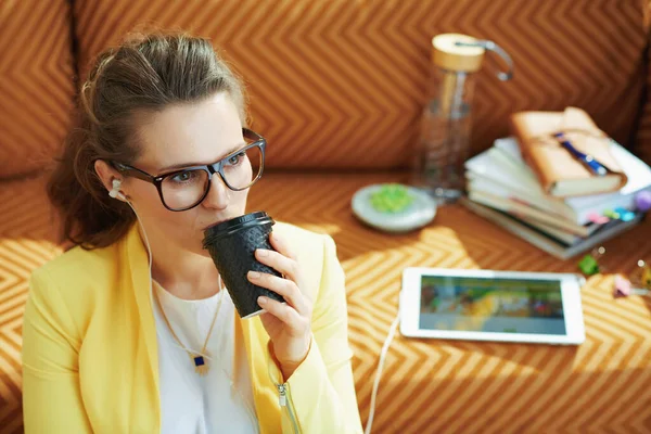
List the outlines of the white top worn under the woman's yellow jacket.
{"type": "Polygon", "coordinates": [[[203,376],[195,372],[194,361],[178,345],[161,316],[157,303],[152,301],[158,337],[161,432],[257,433],[248,366],[233,369],[235,352],[240,360],[245,360],[246,355],[243,345],[235,348],[235,309],[228,291],[197,301],[178,298],[155,281],[153,291],[157,292],[176,335],[186,347],[196,353],[203,347],[222,298],[204,354],[208,373],[203,376]],[[233,379],[233,372],[238,372],[237,379],[233,379]]]}

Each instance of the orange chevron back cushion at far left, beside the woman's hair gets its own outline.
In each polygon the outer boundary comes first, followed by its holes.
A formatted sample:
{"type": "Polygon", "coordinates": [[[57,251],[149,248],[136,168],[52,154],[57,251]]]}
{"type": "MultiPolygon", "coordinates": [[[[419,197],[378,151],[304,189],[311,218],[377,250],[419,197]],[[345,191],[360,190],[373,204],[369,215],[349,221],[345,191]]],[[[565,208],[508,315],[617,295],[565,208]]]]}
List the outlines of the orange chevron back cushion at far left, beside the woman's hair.
{"type": "Polygon", "coordinates": [[[0,179],[36,171],[65,137],[71,36],[66,0],[0,2],[0,179]]]}

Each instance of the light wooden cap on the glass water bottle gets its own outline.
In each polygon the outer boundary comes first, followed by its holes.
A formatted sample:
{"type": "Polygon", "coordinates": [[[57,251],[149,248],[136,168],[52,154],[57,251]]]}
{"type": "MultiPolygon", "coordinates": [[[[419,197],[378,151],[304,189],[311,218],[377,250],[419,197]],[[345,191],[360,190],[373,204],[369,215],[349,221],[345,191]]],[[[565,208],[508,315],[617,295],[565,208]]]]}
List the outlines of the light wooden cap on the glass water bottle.
{"type": "Polygon", "coordinates": [[[474,73],[482,67],[485,49],[483,47],[457,46],[456,42],[472,43],[476,39],[461,34],[443,34],[432,38],[432,61],[447,71],[474,73]]]}

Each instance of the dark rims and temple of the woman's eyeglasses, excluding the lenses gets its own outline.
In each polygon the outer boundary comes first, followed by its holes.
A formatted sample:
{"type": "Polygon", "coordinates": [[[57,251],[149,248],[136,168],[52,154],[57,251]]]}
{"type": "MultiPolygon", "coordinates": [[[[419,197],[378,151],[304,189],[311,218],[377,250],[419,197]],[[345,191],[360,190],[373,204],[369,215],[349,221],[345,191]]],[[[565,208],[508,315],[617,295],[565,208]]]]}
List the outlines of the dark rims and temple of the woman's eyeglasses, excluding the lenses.
{"type": "Polygon", "coordinates": [[[139,169],[133,166],[129,166],[128,164],[124,164],[124,163],[119,163],[119,162],[110,162],[110,163],[117,171],[119,171],[120,174],[123,174],[125,176],[132,176],[133,178],[138,178],[143,181],[153,183],[156,187],[156,190],[158,191],[158,196],[161,197],[161,203],[163,204],[163,206],[165,206],[165,208],[167,208],[171,212],[180,213],[180,212],[192,209],[192,208],[199,206],[206,199],[206,196],[208,195],[208,193],[210,191],[210,184],[213,183],[212,182],[213,175],[215,175],[215,174],[219,174],[219,177],[221,178],[221,181],[224,181],[224,184],[232,191],[246,190],[246,189],[251,188],[251,186],[256,183],[258,181],[258,179],[260,179],[260,177],[263,176],[263,170],[265,168],[265,149],[267,148],[267,140],[263,136],[258,135],[257,132],[255,132],[248,128],[242,128],[242,133],[245,138],[254,140],[254,142],[251,144],[247,144],[246,146],[244,146],[242,149],[231,152],[230,154],[226,155],[224,158],[221,158],[218,162],[213,163],[213,164],[204,164],[204,165],[200,165],[200,166],[189,166],[189,167],[183,167],[180,169],[175,169],[173,171],[167,171],[167,173],[161,174],[158,176],[153,176],[142,169],[139,169]],[[228,161],[229,158],[231,158],[244,151],[247,151],[252,148],[255,148],[255,146],[259,148],[260,153],[261,153],[260,168],[258,170],[258,174],[255,177],[255,179],[251,181],[251,183],[248,186],[243,187],[241,189],[235,189],[226,180],[226,176],[224,175],[224,163],[226,161],[228,161]],[[182,209],[174,209],[174,208],[170,208],[169,206],[167,206],[167,204],[165,203],[165,197],[163,196],[163,181],[170,176],[182,174],[182,173],[189,171],[189,170],[200,170],[200,169],[204,170],[208,174],[207,187],[206,187],[206,190],[205,190],[203,196],[194,205],[182,208],[182,209]]]}

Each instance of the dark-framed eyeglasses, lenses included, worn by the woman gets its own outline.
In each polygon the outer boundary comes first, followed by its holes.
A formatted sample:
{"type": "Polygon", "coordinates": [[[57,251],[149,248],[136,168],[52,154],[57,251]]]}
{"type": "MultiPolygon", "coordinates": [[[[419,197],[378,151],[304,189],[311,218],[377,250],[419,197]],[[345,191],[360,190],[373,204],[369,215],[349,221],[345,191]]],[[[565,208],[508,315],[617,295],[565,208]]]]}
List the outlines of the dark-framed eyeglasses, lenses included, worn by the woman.
{"type": "Polygon", "coordinates": [[[208,195],[213,175],[219,177],[233,191],[246,190],[263,176],[267,141],[260,135],[242,128],[246,144],[217,163],[184,167],[158,176],[139,168],[112,162],[116,170],[125,176],[142,179],[156,186],[163,205],[174,212],[188,210],[197,206],[208,195]]]}

